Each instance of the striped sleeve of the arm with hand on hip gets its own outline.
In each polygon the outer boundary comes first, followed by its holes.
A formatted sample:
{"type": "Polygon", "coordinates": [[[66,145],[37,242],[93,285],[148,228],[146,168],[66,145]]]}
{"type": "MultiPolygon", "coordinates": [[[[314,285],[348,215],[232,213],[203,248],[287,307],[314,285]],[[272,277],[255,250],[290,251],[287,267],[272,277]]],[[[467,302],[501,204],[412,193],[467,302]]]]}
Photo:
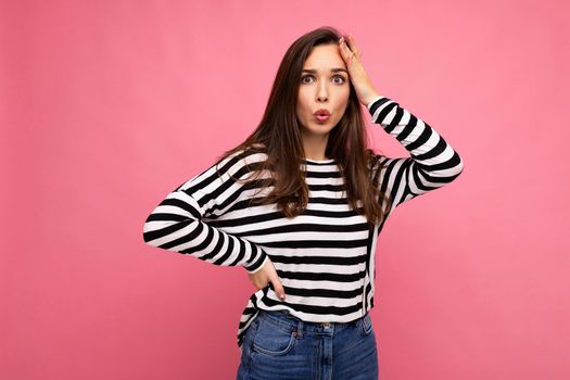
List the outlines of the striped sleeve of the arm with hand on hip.
{"type": "Polygon", "coordinates": [[[144,242],[214,265],[243,266],[250,274],[258,271],[268,257],[262,248],[203,220],[231,208],[243,190],[243,182],[237,179],[249,167],[240,153],[217,163],[220,176],[214,164],[168,193],[144,221],[144,242]]]}

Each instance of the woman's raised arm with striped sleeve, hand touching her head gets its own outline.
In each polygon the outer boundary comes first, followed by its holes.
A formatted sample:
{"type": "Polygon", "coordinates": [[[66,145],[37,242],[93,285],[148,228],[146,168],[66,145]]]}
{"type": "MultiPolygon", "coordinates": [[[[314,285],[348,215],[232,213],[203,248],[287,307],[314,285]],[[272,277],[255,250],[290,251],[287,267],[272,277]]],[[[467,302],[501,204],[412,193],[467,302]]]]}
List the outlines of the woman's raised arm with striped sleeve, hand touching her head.
{"type": "Polygon", "coordinates": [[[339,52],[346,64],[351,83],[360,103],[368,107],[372,122],[396,138],[411,157],[380,157],[384,186],[391,188],[392,208],[457,178],[464,162],[433,128],[419,117],[380,96],[366,73],[353,36],[339,39],[339,52]]]}

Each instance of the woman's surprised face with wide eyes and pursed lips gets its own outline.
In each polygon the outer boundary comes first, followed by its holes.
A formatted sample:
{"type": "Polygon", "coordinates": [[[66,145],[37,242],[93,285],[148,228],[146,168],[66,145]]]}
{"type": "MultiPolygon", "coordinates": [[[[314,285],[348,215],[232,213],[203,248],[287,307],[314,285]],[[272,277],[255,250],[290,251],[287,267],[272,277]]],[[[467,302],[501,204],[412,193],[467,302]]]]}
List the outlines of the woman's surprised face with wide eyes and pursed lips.
{"type": "Polygon", "coordinates": [[[296,101],[302,136],[328,136],[342,118],[350,93],[349,73],[339,46],[331,43],[313,48],[303,65],[296,101]],[[315,112],[321,109],[330,113],[328,118],[315,116],[315,112]]]}

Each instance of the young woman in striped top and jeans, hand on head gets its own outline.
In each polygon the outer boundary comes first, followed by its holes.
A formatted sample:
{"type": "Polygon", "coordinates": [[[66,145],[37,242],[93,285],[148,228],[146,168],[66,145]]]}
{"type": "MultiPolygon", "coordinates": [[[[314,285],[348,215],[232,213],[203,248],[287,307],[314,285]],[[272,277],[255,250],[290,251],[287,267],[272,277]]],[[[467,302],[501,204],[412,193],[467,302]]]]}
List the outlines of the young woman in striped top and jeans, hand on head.
{"type": "Polygon", "coordinates": [[[300,37],[257,128],[144,223],[148,244],[248,271],[257,291],[238,326],[238,379],[377,379],[378,235],[397,205],[463,172],[447,141],[377,91],[360,55],[331,27],[300,37]],[[362,105],[410,157],[367,147],[362,105]]]}

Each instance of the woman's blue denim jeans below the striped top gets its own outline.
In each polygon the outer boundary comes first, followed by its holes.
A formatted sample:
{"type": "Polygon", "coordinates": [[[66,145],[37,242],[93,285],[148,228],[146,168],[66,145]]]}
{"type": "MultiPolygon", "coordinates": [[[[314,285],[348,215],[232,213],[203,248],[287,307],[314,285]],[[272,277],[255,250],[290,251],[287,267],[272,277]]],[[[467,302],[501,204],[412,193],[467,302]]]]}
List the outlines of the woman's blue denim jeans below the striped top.
{"type": "Polygon", "coordinates": [[[237,380],[377,380],[368,313],[352,322],[306,322],[259,309],[243,338],[237,380]]]}

